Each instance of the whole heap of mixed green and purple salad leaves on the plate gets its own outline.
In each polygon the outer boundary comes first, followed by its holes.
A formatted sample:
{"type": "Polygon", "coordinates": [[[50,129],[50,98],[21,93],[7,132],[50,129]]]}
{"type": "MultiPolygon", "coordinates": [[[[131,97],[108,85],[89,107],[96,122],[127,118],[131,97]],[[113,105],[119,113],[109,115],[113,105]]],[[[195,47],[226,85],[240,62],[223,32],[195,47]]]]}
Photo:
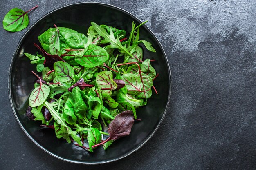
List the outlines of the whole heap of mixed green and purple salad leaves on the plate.
{"type": "Polygon", "coordinates": [[[147,104],[152,88],[157,93],[154,60],[143,58],[139,46],[155,52],[150,42],[139,40],[145,23],[132,23],[128,39],[125,30],[94,22],[87,36],[55,24],[42,33],[42,48],[34,44],[40,52],[24,53],[38,72],[32,71],[37,80],[27,117],[90,152],[129,135],[140,120],[136,109],[147,104]]]}

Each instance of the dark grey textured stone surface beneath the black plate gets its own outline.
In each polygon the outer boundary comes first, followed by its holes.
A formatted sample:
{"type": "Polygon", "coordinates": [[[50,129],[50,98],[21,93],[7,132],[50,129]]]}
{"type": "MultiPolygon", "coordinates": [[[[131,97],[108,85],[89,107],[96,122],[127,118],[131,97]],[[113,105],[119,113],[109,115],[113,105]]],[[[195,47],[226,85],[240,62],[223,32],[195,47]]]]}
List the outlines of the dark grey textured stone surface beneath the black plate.
{"type": "MultiPolygon", "coordinates": [[[[13,7],[30,24],[80,0],[1,0],[0,20],[13,7]]],[[[102,0],[149,20],[172,73],[168,113],[137,152],[108,164],[67,163],[38,148],[16,121],[7,91],[9,64],[25,30],[0,26],[0,169],[188,170],[256,169],[256,1],[102,0]]]]}

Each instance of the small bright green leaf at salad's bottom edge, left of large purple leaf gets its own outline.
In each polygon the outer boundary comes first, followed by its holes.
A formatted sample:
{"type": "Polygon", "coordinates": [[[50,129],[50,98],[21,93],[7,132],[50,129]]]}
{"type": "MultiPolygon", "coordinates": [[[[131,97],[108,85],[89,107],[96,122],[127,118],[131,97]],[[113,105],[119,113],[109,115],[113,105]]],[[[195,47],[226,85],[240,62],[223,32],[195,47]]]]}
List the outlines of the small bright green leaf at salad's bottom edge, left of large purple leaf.
{"type": "Polygon", "coordinates": [[[92,152],[92,146],[101,142],[101,133],[96,128],[88,128],[87,140],[90,152],[92,152]]]}

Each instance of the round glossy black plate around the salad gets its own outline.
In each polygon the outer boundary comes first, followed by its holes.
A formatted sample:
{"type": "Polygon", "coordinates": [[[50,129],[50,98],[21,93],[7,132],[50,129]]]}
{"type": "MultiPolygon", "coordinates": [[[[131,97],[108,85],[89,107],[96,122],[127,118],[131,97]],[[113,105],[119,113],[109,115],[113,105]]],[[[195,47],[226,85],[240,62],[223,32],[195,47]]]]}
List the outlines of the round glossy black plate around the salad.
{"type": "Polygon", "coordinates": [[[144,145],[164,118],[171,91],[170,69],[164,50],[148,27],[142,26],[140,39],[151,42],[157,51],[152,53],[145,50],[143,46],[144,57],[157,60],[153,62],[153,66],[160,75],[155,79],[154,84],[159,94],[156,95],[153,92],[152,97],[148,99],[148,104],[137,110],[137,117],[142,121],[134,124],[129,136],[118,139],[106,151],[103,150],[103,147],[98,147],[94,152],[89,153],[74,144],[68,144],[64,139],[57,139],[54,131],[40,127],[40,122],[30,121],[25,115],[25,110],[28,107],[28,98],[36,80],[31,71],[36,71],[36,68],[35,64],[30,64],[23,52],[35,54],[38,49],[33,46],[33,43],[40,44],[38,35],[52,27],[53,24],[86,34],[91,21],[115,26],[126,30],[127,33],[131,31],[132,21],[137,24],[141,23],[132,14],[107,4],[79,3],[61,7],[48,13],[28,29],[13,55],[9,72],[11,106],[18,123],[27,136],[54,157],[84,164],[115,161],[126,157],[144,145]]]}

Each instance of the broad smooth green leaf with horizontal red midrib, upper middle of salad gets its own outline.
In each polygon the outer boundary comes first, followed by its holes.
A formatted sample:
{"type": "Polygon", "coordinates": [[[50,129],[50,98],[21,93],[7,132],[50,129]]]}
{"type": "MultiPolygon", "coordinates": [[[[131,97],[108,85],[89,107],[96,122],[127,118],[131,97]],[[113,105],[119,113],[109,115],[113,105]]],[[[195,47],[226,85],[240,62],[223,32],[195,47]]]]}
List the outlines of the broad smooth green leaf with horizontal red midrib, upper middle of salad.
{"type": "Polygon", "coordinates": [[[103,64],[108,60],[109,55],[106,50],[100,46],[89,45],[82,57],[76,57],[75,61],[81,66],[92,68],[103,64]]]}

